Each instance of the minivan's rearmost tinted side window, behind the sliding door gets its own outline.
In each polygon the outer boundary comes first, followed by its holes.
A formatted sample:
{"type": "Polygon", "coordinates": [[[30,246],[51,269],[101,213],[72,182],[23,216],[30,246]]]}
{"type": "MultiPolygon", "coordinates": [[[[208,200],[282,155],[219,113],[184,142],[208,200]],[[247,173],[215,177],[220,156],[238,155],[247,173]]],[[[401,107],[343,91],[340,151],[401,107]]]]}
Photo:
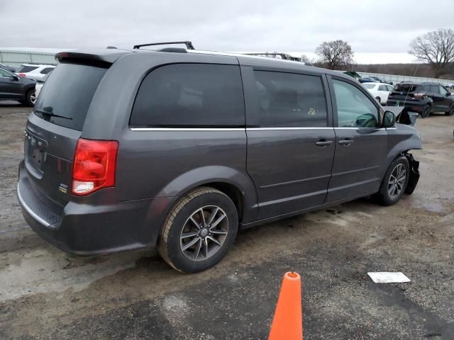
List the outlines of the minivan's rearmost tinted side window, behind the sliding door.
{"type": "Polygon", "coordinates": [[[155,69],[140,85],[130,125],[244,126],[240,68],[219,64],[170,64],[155,69]]]}

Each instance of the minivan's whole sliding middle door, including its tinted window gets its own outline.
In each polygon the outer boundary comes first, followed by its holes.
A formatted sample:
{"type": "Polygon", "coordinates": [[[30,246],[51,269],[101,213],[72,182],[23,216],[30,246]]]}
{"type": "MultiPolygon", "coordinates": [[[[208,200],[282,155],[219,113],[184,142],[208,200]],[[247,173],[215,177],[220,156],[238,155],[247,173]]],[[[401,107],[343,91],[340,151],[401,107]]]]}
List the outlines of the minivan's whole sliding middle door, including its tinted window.
{"type": "Polygon", "coordinates": [[[322,205],[336,137],[326,79],[271,67],[241,72],[258,219],[322,205]]]}

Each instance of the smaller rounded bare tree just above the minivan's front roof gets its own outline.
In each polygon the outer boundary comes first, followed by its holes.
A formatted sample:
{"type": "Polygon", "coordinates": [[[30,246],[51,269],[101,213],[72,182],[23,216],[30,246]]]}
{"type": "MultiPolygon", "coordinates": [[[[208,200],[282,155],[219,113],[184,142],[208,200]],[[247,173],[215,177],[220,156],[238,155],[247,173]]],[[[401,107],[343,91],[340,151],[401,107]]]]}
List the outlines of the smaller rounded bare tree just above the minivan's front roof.
{"type": "Polygon", "coordinates": [[[343,40],[324,41],[315,50],[319,55],[321,62],[328,69],[337,69],[338,67],[348,67],[353,64],[353,51],[350,44],[343,40]]]}

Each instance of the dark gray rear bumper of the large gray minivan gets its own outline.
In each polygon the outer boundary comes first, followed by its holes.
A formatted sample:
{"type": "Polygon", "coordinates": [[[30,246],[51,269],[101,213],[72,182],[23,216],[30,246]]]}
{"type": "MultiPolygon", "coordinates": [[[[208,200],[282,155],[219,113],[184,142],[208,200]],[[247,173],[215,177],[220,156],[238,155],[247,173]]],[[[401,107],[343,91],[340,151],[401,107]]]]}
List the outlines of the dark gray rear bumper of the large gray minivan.
{"type": "MultiPolygon", "coordinates": [[[[104,191],[114,191],[107,188],[104,191]]],[[[101,191],[98,193],[108,195],[101,191]]],[[[40,200],[28,174],[19,166],[18,201],[26,222],[40,237],[57,248],[77,255],[108,254],[116,251],[153,248],[165,218],[160,207],[170,198],[155,198],[100,204],[70,201],[60,215],[40,200]]]]}

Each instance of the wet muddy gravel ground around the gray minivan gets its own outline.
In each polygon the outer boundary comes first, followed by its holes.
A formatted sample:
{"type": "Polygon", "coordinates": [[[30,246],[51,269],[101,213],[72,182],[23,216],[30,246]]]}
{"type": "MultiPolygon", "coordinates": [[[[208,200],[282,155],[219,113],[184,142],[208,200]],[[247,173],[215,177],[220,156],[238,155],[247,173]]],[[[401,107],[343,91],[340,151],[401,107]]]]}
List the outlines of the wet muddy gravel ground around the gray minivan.
{"type": "Polygon", "coordinates": [[[0,103],[0,339],[266,339],[290,270],[306,340],[454,339],[454,117],[418,121],[421,180],[397,205],[365,198],[248,229],[218,266],[184,275],[153,251],[73,257],[31,231],[15,193],[30,111],[0,103]]]}

